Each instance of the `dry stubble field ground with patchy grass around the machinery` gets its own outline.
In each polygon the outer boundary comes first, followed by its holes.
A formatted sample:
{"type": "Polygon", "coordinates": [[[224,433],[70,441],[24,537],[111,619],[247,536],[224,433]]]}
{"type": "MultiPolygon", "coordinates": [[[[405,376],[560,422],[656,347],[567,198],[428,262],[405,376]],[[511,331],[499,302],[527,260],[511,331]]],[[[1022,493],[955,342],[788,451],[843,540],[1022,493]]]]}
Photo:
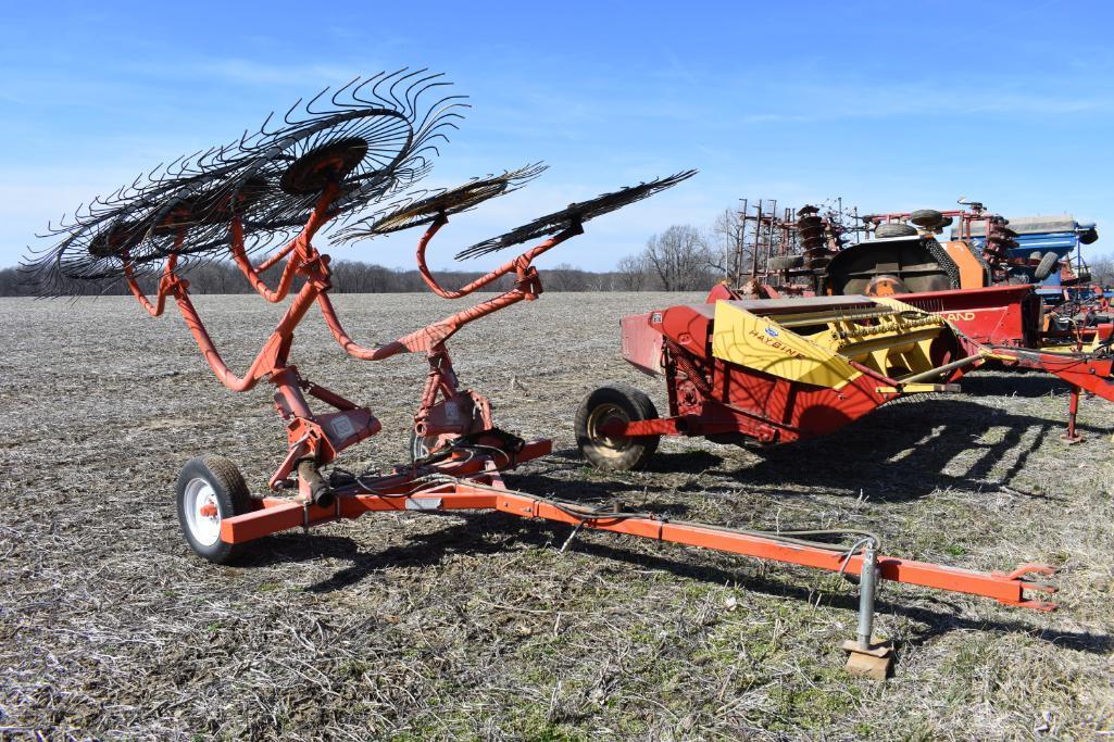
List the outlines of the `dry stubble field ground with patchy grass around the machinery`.
{"type": "MultiPolygon", "coordinates": [[[[663,441],[649,471],[575,451],[579,399],[606,380],[664,409],[618,355],[617,321],[698,296],[546,294],[451,343],[497,422],[553,437],[510,473],[536,494],[717,524],[851,525],[888,554],[975,569],[1063,567],[1053,614],[888,584],[885,683],[842,672],[854,587],[838,577],[509,516],[405,514],[196,558],[179,467],[234,460],[253,490],[285,450],[266,384],[226,391],[176,314],[124,299],[0,300],[0,736],[35,739],[1094,739],[1114,734],[1114,408],[986,372],[824,440],[765,451],[663,441]],[[511,384],[511,378],[518,384],[511,384]]],[[[440,316],[426,295],[343,295],[387,341],[440,316]]],[[[203,296],[243,369],[274,307],[203,296]]],[[[173,310],[172,310],[173,311],[173,310]]],[[[293,360],[383,421],[356,470],[405,457],[420,358],[346,358],[316,315],[293,360]]]]}

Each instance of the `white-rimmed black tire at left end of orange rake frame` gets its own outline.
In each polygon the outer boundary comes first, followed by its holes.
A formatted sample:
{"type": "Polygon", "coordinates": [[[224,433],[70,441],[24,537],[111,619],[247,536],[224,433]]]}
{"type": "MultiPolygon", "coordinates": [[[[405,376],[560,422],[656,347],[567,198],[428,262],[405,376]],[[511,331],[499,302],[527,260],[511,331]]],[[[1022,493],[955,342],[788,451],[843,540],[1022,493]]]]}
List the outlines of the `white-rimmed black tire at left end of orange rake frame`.
{"type": "Polygon", "coordinates": [[[223,456],[205,455],[186,461],[177,484],[178,525],[198,556],[228,564],[241,556],[242,544],[221,540],[221,521],[250,512],[252,496],[236,466],[223,456]],[[208,515],[203,508],[215,507],[208,515]]]}

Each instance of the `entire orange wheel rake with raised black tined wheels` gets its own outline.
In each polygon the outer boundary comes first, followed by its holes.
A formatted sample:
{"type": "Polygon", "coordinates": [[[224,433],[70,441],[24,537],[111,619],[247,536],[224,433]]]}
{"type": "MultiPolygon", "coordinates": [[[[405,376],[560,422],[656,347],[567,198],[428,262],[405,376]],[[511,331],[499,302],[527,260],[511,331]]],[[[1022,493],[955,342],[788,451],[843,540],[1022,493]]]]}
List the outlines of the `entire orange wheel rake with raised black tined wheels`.
{"type": "MultiPolygon", "coordinates": [[[[670,521],[647,512],[589,508],[508,489],[500,472],[549,453],[551,442],[526,441],[496,428],[487,400],[461,388],[447,341],[471,322],[537,299],[543,285],[534,261],[582,234],[586,222],[673,187],[694,172],[575,203],[472,245],[458,257],[540,241],[476,281],[446,289],[426,263],[433,236],[451,215],[521,187],[541,168],[529,166],[433,194],[405,193],[429,172],[437,154],[433,143],[444,139],[444,130],[459,117],[461,104],[455,97],[442,97],[431,106],[420,102],[426,91],[441,85],[437,76],[424,71],[400,70],[342,87],[324,109],[319,105],[323,94],[319,95],[300,114],[287,113],[285,126],[272,130],[265,123],[235,145],[176,160],[146,182],[137,180],[96,201],[76,221],[52,230],[60,242],[30,264],[47,293],[71,291],[75,280],[116,279],[154,316],[163,314],[167,300],[173,300],[203,358],[226,388],[247,391],[261,381],[274,387],[289,448],[268,480],[268,496],[245,498],[231,462],[202,458],[183,470],[179,517],[195,551],[211,562],[226,563],[244,545],[267,535],[375,511],[498,510],[830,572],[850,570],[861,574],[864,583],[877,573],[878,578],[987,596],[1007,605],[1054,607],[1027,593],[1055,590],[1026,578],[1034,572],[1049,573],[1040,566],[1024,565],[1009,574],[952,569],[880,556],[876,537],[851,530],[744,531],[670,521]],[[364,215],[372,209],[372,215],[364,215]],[[313,245],[323,230],[358,215],[362,218],[342,236],[358,240],[426,227],[418,241],[418,267],[438,296],[468,296],[502,276],[514,276],[514,286],[392,342],[361,345],[345,331],[329,296],[330,257],[313,245]],[[255,250],[270,251],[270,255],[253,264],[247,254],[255,250]],[[285,313],[243,374],[233,372],[221,357],[190,301],[188,281],[179,272],[183,261],[222,255],[235,261],[266,301],[290,297],[285,313]],[[281,277],[271,287],[262,273],[280,263],[281,277]],[[137,277],[156,265],[162,273],[154,295],[148,296],[137,277]],[[295,276],[302,284],[290,296],[295,276]],[[382,426],[368,408],[309,381],[290,363],[294,331],[314,305],[336,343],[355,359],[426,355],[428,374],[412,428],[426,456],[385,476],[353,476],[339,469],[324,476],[323,467],[380,432],[382,426]],[[331,410],[315,411],[311,402],[331,410]],[[815,540],[818,536],[857,540],[831,544],[815,540]]],[[[873,593],[862,590],[860,601],[856,651],[861,653],[872,651],[873,593]]]]}

